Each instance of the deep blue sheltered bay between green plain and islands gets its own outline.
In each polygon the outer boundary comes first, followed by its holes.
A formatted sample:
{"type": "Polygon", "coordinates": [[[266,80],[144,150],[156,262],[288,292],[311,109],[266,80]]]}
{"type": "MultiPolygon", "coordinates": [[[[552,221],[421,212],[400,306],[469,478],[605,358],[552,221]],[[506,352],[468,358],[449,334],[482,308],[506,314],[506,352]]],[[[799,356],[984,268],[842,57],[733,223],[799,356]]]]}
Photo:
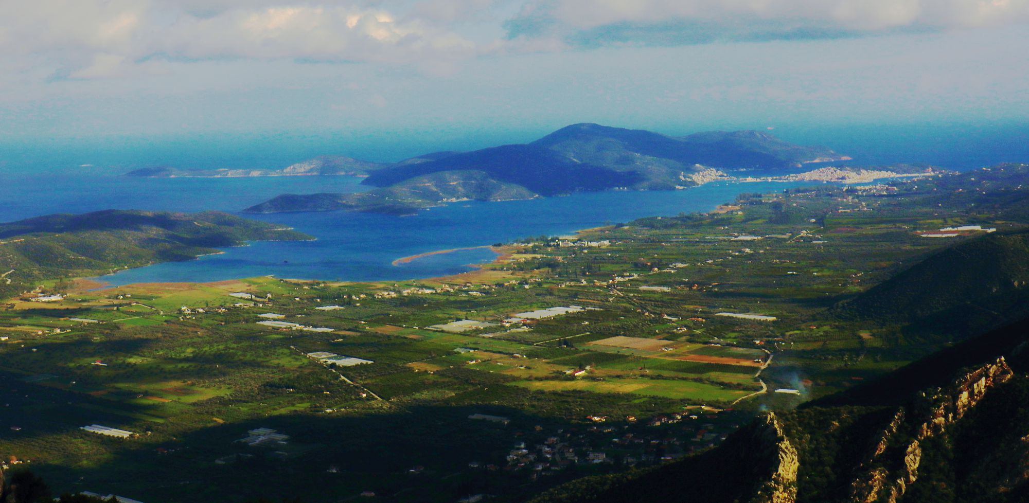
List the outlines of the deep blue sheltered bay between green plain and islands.
{"type": "MultiPolygon", "coordinates": [[[[23,176],[17,190],[0,193],[0,220],[108,208],[197,212],[239,210],[283,192],[357,191],[350,177],[127,178],[23,176]]],[[[311,242],[257,242],[186,262],[105,276],[113,285],[219,281],[275,275],[320,280],[401,280],[468,271],[493,260],[487,249],[433,255],[401,265],[392,261],[428,251],[490,245],[539,235],[565,235],[650,215],[707,211],[740,191],[781,190],[785,184],[705,185],[675,191],[608,191],[503,203],[463,203],[411,217],[349,212],[246,215],[317,237],[311,242]]]]}

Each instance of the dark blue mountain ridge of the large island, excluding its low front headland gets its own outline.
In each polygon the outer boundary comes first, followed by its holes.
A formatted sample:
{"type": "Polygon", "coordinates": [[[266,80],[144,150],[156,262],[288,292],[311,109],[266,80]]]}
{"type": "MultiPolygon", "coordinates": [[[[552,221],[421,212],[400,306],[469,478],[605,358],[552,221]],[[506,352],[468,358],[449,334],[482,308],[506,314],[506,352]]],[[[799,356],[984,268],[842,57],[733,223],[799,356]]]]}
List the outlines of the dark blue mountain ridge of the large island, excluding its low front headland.
{"type": "Polygon", "coordinates": [[[528,145],[414,157],[377,171],[364,183],[384,187],[438,171],[480,170],[497,180],[518,183],[546,195],[575,189],[628,186],[650,178],[670,180],[671,175],[691,170],[698,164],[725,169],[774,170],[829,158],[841,157],[825,148],[791,145],[753,131],[672,138],[643,130],[578,123],[528,145]],[[635,176],[616,172],[631,172],[635,176]],[[541,180],[540,177],[558,179],[541,180]]]}

